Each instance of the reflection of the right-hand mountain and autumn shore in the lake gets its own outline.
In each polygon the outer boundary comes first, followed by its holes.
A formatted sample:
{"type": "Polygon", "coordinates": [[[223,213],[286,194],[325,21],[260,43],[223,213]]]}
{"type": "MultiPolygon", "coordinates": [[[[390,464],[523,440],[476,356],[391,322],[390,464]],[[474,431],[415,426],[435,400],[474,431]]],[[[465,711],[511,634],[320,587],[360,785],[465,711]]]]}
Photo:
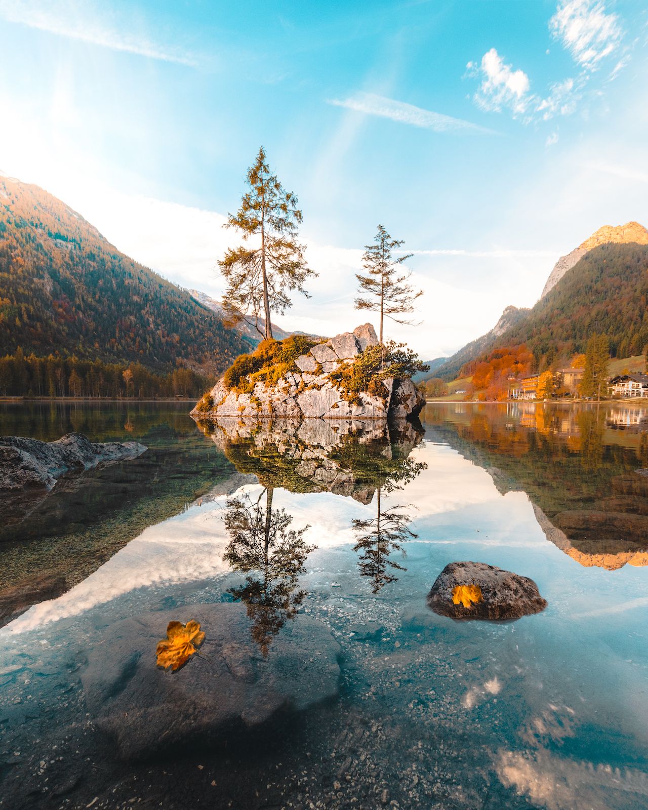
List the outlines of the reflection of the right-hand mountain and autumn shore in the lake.
{"type": "Polygon", "coordinates": [[[648,565],[648,406],[428,406],[427,437],[523,491],[547,539],[581,565],[648,565]]]}

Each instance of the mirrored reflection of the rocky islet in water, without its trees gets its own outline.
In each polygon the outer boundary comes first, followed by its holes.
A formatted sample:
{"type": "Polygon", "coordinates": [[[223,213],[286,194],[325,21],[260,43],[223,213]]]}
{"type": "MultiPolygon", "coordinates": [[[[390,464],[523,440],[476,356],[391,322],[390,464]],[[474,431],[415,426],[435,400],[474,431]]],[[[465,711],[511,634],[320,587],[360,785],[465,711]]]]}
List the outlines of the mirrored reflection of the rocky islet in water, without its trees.
{"type": "Polygon", "coordinates": [[[219,418],[206,435],[241,473],[291,492],[335,492],[367,504],[378,487],[407,480],[423,437],[418,423],[219,418]]]}

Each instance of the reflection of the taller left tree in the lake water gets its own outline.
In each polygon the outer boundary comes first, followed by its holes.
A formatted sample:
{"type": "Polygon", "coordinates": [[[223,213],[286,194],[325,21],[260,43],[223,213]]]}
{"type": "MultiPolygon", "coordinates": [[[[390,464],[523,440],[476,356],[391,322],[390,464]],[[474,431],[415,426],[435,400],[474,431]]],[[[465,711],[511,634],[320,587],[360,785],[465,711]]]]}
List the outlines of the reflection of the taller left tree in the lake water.
{"type": "Polygon", "coordinates": [[[305,597],[304,590],[297,590],[299,575],[305,571],[306,557],[316,548],[304,540],[309,526],[291,529],[292,515],[285,509],[272,509],[273,492],[272,487],[263,489],[256,501],[249,495],[230,498],[224,515],[230,540],[223,559],[233,570],[248,574],[245,585],[230,588],[228,593],[245,603],[252,637],[264,658],[272,638],[288,619],[294,619],[305,597]]]}

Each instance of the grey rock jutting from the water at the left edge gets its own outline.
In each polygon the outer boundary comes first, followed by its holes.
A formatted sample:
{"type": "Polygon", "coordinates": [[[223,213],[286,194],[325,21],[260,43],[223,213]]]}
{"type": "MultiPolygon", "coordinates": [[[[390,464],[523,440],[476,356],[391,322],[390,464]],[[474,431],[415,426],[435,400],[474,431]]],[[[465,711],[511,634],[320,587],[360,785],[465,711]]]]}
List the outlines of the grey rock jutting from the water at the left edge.
{"type": "Polygon", "coordinates": [[[49,491],[70,470],[87,470],[100,463],[136,458],[146,449],[137,441],[96,444],[81,433],[67,433],[50,442],[0,437],[0,492],[49,491]]]}

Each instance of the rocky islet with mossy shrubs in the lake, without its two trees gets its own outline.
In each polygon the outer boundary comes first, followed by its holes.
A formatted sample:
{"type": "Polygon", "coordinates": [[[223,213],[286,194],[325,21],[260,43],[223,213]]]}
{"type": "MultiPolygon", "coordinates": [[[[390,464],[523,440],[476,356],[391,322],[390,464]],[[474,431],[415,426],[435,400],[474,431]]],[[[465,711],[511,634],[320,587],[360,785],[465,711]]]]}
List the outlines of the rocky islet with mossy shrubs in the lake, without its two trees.
{"type": "Polygon", "coordinates": [[[411,382],[424,369],[402,345],[381,346],[369,323],[322,342],[264,340],[234,361],[191,416],[404,420],[425,404],[411,382]]]}

